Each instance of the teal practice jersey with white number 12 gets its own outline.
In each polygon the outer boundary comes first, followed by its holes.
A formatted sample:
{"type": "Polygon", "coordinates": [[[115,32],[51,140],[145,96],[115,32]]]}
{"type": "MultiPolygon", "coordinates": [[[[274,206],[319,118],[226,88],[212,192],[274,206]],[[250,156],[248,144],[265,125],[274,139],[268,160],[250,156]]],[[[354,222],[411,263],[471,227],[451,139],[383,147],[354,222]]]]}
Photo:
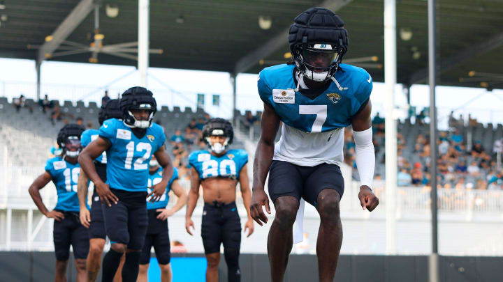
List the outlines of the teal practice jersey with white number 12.
{"type": "Polygon", "coordinates": [[[110,188],[146,192],[150,159],[166,141],[162,127],[152,123],[139,139],[122,120],[110,118],[101,125],[99,136],[110,141],[110,148],[106,151],[110,188]]]}

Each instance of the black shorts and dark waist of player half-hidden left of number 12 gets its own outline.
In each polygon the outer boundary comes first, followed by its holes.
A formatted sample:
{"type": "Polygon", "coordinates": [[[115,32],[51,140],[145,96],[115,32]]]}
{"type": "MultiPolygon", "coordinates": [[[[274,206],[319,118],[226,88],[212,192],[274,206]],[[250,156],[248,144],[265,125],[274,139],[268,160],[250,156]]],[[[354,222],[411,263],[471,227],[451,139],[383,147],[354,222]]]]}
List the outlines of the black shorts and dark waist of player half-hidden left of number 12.
{"type": "MultiPolygon", "coordinates": [[[[101,178],[101,181],[106,182],[106,164],[101,164],[101,162],[94,162],[96,166],[96,173],[101,178]]],[[[94,188],[94,193],[92,196],[91,204],[91,224],[89,226],[89,239],[105,239],[105,221],[103,221],[103,210],[101,209],[101,201],[98,193],[96,193],[96,187],[94,188]]]]}

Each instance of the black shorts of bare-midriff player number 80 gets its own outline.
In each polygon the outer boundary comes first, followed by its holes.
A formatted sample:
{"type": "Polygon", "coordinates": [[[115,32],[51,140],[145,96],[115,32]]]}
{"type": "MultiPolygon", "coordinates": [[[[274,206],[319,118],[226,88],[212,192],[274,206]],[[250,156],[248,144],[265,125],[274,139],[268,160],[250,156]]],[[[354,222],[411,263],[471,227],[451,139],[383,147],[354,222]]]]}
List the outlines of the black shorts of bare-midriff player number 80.
{"type": "Polygon", "coordinates": [[[221,243],[226,249],[240,249],[241,221],[235,202],[205,203],[201,237],[205,253],[219,253],[221,243]]]}

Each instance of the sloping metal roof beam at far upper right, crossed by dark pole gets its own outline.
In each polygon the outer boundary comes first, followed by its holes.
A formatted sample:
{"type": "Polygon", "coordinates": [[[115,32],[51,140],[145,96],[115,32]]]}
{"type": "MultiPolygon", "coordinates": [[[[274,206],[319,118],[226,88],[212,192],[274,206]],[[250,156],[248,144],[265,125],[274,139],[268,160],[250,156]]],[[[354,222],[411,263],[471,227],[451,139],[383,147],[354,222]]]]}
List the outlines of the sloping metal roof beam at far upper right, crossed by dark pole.
{"type": "MultiPolygon", "coordinates": [[[[502,45],[503,45],[503,33],[498,33],[496,36],[493,36],[489,40],[481,42],[472,47],[468,47],[467,49],[463,49],[462,51],[442,60],[440,62],[439,68],[437,68],[438,72],[437,75],[442,74],[442,72],[451,70],[460,63],[464,63],[467,60],[470,60],[477,56],[481,56],[482,54],[490,52],[502,45]]],[[[429,68],[423,68],[421,70],[418,70],[417,72],[414,72],[414,74],[411,75],[409,79],[409,85],[425,82],[426,79],[428,78],[428,70],[429,68]]]]}

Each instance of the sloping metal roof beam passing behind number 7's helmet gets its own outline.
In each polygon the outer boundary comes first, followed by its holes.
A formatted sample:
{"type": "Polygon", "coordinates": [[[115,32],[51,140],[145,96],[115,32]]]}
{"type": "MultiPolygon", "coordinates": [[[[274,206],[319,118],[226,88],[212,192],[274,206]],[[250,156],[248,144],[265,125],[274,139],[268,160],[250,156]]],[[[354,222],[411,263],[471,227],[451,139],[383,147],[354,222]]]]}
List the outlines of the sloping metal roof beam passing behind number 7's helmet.
{"type": "MultiPolygon", "coordinates": [[[[337,12],[353,0],[325,0],[321,2],[318,7],[327,8],[337,12]]],[[[265,42],[261,47],[255,49],[251,53],[239,59],[235,64],[234,73],[246,72],[251,67],[256,65],[258,61],[276,52],[279,47],[286,45],[288,42],[290,26],[286,27],[282,32],[265,42]]]]}

